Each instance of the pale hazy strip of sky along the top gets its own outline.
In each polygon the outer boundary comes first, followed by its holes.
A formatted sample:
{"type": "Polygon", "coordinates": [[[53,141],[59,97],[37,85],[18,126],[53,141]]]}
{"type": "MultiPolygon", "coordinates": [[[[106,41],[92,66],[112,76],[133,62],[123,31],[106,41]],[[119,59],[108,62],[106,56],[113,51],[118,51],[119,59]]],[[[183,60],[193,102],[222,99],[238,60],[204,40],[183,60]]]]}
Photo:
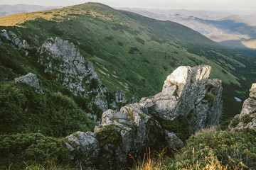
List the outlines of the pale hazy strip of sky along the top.
{"type": "MultiPolygon", "coordinates": [[[[255,11],[256,0],[91,0],[112,7],[202,9],[255,11]]],[[[82,0],[0,0],[3,4],[34,4],[41,6],[71,6],[82,4],[82,0]]]]}

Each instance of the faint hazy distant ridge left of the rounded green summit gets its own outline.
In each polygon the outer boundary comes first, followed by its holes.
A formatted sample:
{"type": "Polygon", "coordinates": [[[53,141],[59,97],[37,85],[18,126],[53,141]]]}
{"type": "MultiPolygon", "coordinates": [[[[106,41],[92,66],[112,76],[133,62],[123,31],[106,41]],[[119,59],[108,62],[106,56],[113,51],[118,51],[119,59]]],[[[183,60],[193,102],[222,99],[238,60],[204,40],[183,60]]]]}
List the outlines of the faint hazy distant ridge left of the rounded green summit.
{"type": "Polygon", "coordinates": [[[9,16],[15,13],[42,11],[42,10],[49,10],[53,8],[60,8],[60,6],[37,6],[37,5],[25,5],[25,4],[0,5],[0,17],[9,16]]]}

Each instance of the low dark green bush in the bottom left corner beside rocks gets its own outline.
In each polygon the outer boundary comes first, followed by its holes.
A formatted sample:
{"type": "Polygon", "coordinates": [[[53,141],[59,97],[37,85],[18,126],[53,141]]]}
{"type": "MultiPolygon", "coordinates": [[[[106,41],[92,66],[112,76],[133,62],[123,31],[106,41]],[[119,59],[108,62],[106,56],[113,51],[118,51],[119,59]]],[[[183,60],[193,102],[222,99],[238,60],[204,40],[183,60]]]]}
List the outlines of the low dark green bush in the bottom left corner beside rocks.
{"type": "Polygon", "coordinates": [[[0,169],[25,169],[26,164],[70,164],[70,152],[63,139],[46,137],[41,133],[2,135],[0,140],[0,169]]]}

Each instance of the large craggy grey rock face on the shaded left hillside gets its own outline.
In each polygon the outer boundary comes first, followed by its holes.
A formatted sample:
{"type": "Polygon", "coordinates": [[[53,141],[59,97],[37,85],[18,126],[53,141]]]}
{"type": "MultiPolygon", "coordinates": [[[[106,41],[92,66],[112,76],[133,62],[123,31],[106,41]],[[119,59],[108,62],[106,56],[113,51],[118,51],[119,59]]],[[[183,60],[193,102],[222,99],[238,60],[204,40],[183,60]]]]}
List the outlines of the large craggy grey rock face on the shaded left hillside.
{"type": "Polygon", "coordinates": [[[90,96],[103,111],[107,101],[99,77],[91,62],[80,55],[72,42],[60,38],[50,38],[38,48],[38,62],[45,67],[44,72],[52,74],[56,81],[81,96],[90,96]]]}

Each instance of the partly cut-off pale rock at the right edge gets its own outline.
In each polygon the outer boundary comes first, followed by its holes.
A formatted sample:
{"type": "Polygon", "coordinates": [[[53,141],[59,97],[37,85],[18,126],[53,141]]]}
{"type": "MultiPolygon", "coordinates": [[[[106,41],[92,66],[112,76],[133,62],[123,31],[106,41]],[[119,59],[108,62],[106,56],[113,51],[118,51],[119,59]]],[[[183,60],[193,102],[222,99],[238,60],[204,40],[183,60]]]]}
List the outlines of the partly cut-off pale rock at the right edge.
{"type": "Polygon", "coordinates": [[[256,132],[256,83],[252,84],[250,97],[247,98],[240,114],[235,115],[228,128],[230,130],[254,130],[256,132]]]}

